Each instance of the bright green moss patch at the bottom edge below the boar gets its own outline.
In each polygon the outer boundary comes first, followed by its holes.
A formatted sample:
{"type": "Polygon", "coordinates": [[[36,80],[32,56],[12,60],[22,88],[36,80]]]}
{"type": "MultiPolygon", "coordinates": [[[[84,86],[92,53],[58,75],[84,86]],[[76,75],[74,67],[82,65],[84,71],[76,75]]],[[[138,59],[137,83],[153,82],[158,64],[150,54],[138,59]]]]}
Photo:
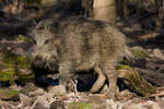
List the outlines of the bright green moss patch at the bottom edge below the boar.
{"type": "Polygon", "coordinates": [[[69,109],[93,109],[93,107],[85,102],[72,102],[70,104],[69,109]]]}

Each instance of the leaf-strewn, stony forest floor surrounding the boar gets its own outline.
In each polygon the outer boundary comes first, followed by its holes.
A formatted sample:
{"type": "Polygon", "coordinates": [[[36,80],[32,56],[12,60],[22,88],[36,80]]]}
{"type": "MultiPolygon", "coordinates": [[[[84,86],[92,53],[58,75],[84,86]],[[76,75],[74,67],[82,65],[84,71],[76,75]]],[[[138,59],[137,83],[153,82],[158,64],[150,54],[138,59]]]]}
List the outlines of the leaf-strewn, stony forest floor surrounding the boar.
{"type": "MultiPolygon", "coordinates": [[[[5,14],[5,13],[4,13],[5,14]]],[[[25,14],[25,13],[24,13],[25,14]]],[[[3,55],[8,51],[25,56],[32,48],[26,33],[33,25],[33,15],[36,11],[26,11],[25,15],[0,16],[0,71],[7,71],[3,64],[3,55]],[[30,17],[30,19],[27,19],[30,17]]],[[[145,19],[145,21],[148,21],[145,19]]],[[[142,21],[142,23],[144,20],[142,21]]],[[[147,24],[147,22],[145,22],[147,24]]],[[[163,90],[164,86],[164,37],[163,33],[148,31],[141,22],[117,23],[118,28],[128,37],[131,49],[142,50],[131,66],[137,69],[153,86],[163,90]],[[150,74],[148,74],[150,73],[150,74]]],[[[8,70],[9,71],[9,70],[8,70]]],[[[1,73],[0,72],[0,73],[1,73]]],[[[26,74],[25,70],[25,74],[26,74]]],[[[48,71],[45,71],[48,72],[48,71]]],[[[2,78],[3,75],[0,74],[2,78]]],[[[121,98],[114,100],[104,94],[89,94],[75,92],[62,95],[62,87],[58,85],[56,75],[48,77],[30,78],[27,81],[14,77],[0,82],[0,109],[164,109],[164,93],[144,97],[127,88],[120,92],[121,98]],[[46,86],[46,87],[45,87],[46,86]]],[[[82,87],[89,88],[96,77],[89,74],[89,82],[81,82],[82,87]],[[91,77],[92,76],[92,77],[91,77]]],[[[79,88],[79,87],[78,87],[79,88]]],[[[80,90],[80,89],[79,89],[80,90]]]]}

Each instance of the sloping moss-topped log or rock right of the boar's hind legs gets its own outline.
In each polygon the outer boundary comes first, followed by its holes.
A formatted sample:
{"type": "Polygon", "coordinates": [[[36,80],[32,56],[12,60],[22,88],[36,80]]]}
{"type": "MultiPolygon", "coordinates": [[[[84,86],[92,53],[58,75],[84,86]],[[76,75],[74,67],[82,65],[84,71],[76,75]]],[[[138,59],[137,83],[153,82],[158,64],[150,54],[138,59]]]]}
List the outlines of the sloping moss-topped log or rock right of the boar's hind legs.
{"type": "Polygon", "coordinates": [[[126,86],[142,96],[150,96],[155,93],[156,87],[147,82],[139,72],[128,65],[117,66],[119,77],[124,80],[126,86]]]}

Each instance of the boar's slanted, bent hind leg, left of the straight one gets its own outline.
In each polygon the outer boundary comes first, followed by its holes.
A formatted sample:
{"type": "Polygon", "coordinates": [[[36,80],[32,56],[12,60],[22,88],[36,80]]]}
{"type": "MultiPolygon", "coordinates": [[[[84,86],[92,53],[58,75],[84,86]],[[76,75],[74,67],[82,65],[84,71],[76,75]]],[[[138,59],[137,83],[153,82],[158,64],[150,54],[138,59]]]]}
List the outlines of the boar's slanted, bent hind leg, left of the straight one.
{"type": "Polygon", "coordinates": [[[95,66],[94,71],[98,74],[98,78],[96,80],[96,82],[94,83],[94,85],[92,86],[92,88],[90,89],[91,93],[96,93],[99,90],[99,88],[103,87],[103,85],[105,84],[105,75],[102,72],[99,66],[95,66]]]}

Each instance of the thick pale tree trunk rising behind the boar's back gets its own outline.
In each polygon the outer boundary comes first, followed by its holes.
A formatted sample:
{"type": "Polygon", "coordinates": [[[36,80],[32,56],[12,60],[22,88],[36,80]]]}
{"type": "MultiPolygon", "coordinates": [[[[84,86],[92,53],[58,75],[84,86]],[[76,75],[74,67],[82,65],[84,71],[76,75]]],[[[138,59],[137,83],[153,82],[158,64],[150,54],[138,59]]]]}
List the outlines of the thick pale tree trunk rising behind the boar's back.
{"type": "Polygon", "coordinates": [[[94,0],[93,17],[95,20],[106,21],[112,24],[116,22],[115,0],[94,0]]]}

